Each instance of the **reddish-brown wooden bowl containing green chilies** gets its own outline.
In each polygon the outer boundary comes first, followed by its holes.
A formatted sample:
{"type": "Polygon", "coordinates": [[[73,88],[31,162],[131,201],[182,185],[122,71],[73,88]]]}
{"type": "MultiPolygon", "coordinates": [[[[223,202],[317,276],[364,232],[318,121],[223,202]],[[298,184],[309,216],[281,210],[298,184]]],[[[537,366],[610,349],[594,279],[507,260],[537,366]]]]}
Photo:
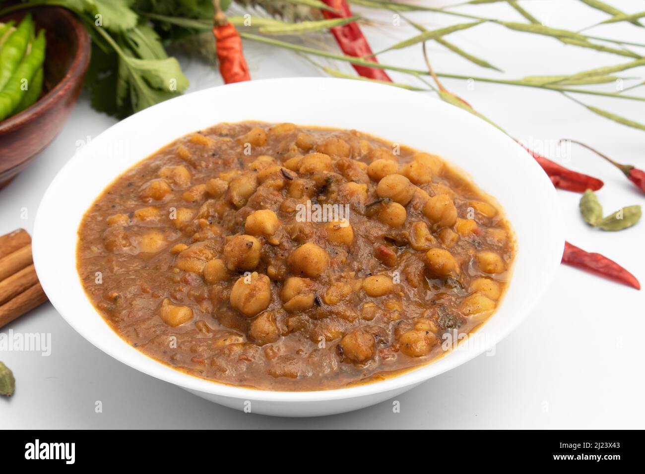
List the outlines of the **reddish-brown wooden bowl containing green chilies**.
{"type": "Polygon", "coordinates": [[[47,50],[43,94],[31,107],[0,121],[0,188],[21,172],[63,127],[83,87],[90,63],[90,35],[72,13],[56,6],[25,8],[2,21],[31,12],[45,28],[47,50]]]}

